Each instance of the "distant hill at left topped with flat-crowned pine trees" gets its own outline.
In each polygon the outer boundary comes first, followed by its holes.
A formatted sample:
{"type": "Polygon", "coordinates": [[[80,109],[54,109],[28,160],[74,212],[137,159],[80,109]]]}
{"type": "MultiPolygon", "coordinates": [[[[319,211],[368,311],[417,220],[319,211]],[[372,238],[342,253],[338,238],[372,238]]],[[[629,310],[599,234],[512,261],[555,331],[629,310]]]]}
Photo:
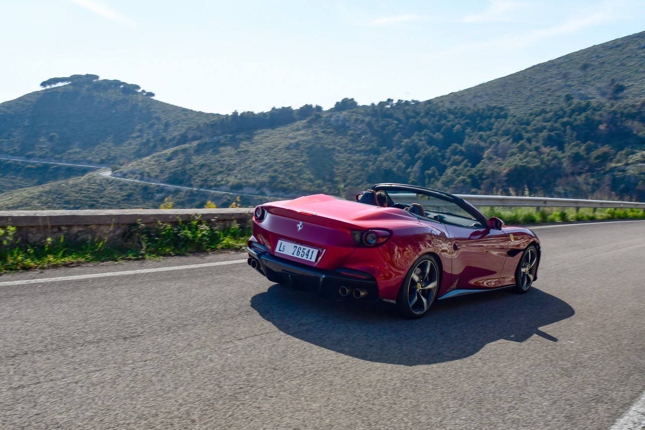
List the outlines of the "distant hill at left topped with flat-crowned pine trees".
{"type": "Polygon", "coordinates": [[[56,79],[68,83],[0,104],[0,152],[123,163],[172,147],[183,132],[217,117],[156,101],[121,81],[56,79]]]}

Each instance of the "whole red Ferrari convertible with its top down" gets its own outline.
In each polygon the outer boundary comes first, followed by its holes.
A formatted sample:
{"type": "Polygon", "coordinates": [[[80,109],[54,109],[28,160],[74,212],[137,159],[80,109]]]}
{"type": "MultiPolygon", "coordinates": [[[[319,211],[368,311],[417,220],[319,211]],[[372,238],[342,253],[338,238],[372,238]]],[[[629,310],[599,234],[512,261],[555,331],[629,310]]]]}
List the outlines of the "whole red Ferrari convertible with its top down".
{"type": "Polygon", "coordinates": [[[324,296],[395,302],[419,318],[437,299],[537,280],[540,242],[447,192],[381,183],[357,201],[316,194],[255,208],[248,263],[324,296]]]}

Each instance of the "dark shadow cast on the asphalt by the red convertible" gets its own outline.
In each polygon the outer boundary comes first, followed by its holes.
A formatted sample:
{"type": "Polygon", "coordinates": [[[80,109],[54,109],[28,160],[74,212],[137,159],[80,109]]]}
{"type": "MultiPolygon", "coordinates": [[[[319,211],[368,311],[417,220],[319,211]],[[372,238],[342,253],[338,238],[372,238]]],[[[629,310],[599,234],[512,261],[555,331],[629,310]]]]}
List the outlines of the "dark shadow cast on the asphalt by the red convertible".
{"type": "Polygon", "coordinates": [[[370,362],[424,365],[471,356],[497,340],[524,342],[539,327],[573,316],[568,303],[539,289],[439,300],[420,320],[399,318],[390,303],[337,302],[273,285],[251,299],[265,320],[294,338],[370,362]]]}

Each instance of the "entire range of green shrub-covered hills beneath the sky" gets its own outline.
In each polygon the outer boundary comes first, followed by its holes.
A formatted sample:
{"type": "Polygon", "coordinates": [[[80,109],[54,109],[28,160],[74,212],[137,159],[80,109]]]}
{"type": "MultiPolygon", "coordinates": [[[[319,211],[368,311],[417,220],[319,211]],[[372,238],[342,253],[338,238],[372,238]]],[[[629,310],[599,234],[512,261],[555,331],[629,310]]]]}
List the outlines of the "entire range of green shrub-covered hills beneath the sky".
{"type": "MultiPolygon", "coordinates": [[[[122,178],[267,198],[397,181],[645,201],[644,63],[645,32],[430,101],[343,99],[324,112],[305,105],[230,115],[167,105],[93,75],[52,78],[45,90],[0,105],[0,153],[104,163],[122,178]]],[[[93,174],[30,179],[12,169],[0,177],[25,178],[28,188],[0,192],[0,209],[155,207],[170,194],[175,207],[190,207],[217,196],[93,174]]],[[[219,198],[221,206],[228,196],[219,198]]]]}

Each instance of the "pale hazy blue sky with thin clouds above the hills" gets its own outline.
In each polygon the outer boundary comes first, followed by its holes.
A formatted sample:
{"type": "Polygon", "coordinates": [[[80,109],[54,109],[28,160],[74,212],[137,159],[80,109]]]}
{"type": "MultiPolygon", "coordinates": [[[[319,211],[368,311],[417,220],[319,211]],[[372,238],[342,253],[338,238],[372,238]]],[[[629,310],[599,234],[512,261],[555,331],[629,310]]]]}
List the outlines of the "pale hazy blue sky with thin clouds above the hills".
{"type": "Polygon", "coordinates": [[[643,30],[643,0],[0,0],[0,102],[72,74],[221,114],[426,100],[643,30]]]}

